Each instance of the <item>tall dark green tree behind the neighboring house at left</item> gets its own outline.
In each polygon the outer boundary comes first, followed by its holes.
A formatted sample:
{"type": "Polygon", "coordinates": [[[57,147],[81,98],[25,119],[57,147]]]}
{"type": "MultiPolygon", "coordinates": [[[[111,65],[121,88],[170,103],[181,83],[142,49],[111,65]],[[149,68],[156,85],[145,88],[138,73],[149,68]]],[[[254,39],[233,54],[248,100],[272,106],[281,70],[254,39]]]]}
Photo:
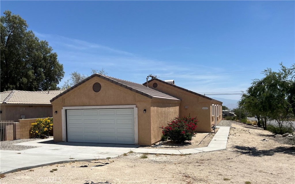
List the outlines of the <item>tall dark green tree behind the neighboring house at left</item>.
{"type": "Polygon", "coordinates": [[[55,90],[64,76],[63,65],[48,42],[27,28],[26,21],[9,10],[1,16],[1,92],[55,90]]]}

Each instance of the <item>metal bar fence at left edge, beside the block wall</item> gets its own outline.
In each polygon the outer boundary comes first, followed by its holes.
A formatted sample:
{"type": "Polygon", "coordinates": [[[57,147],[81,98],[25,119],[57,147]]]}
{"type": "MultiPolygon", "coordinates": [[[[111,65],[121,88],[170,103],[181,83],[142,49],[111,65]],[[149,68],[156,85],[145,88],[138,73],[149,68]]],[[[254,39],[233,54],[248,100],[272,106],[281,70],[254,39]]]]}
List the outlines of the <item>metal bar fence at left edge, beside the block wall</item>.
{"type": "Polygon", "coordinates": [[[0,122],[0,141],[15,140],[15,123],[13,121],[0,122]]]}

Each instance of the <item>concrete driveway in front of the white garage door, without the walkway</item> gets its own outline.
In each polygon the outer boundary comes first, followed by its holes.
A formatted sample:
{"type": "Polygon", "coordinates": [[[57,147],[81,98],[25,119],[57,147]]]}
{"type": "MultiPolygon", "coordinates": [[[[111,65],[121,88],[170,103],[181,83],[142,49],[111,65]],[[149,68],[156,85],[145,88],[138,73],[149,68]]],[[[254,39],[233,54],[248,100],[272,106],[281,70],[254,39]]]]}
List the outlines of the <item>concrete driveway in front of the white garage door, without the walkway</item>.
{"type": "Polygon", "coordinates": [[[70,162],[75,160],[94,160],[114,158],[134,150],[138,145],[97,144],[59,142],[48,143],[53,138],[18,143],[18,145],[40,146],[22,151],[0,150],[0,172],[14,172],[43,165],[70,162]],[[70,159],[71,158],[71,159],[70,159]]]}

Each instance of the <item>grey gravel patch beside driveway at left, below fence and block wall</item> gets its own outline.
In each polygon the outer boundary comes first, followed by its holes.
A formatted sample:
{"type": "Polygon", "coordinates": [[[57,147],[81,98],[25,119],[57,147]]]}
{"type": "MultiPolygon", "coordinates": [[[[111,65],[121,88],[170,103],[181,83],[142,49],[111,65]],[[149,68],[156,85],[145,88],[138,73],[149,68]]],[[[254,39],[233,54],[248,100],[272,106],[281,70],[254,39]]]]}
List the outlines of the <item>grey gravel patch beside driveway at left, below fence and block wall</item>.
{"type": "Polygon", "coordinates": [[[0,142],[0,149],[1,150],[20,151],[20,150],[27,150],[27,149],[38,147],[38,146],[15,145],[17,143],[28,142],[28,141],[33,141],[33,140],[40,140],[40,139],[35,138],[35,139],[18,139],[18,140],[1,141],[0,142]]]}

